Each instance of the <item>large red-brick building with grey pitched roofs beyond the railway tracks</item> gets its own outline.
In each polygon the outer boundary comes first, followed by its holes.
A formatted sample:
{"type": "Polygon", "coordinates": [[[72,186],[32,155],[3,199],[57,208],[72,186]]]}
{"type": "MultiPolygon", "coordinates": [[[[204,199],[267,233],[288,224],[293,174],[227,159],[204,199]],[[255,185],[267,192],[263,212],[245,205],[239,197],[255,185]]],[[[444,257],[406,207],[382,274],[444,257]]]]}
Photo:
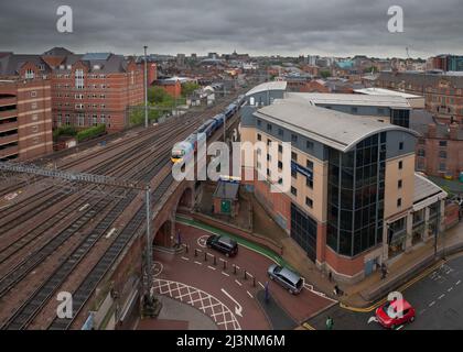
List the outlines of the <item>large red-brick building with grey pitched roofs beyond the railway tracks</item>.
{"type": "Polygon", "coordinates": [[[119,131],[127,125],[127,108],[143,102],[142,68],[111,53],[82,55],[63,47],[42,55],[8,53],[0,57],[0,76],[49,78],[54,128],[104,123],[119,131]]]}

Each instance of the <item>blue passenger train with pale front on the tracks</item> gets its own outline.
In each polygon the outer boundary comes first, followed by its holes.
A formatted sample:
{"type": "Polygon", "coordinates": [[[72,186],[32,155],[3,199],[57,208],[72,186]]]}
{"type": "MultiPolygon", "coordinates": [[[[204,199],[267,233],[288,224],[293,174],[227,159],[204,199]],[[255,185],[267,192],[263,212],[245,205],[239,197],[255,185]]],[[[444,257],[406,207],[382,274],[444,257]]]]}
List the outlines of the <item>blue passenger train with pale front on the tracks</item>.
{"type": "Polygon", "coordinates": [[[182,161],[187,161],[194,155],[197,151],[197,135],[204,133],[207,139],[209,139],[215,131],[220,129],[227,121],[243,107],[245,103],[245,96],[238,96],[225,110],[215,117],[206,120],[202,125],[197,128],[192,134],[190,134],[185,140],[179,142],[174,145],[171,153],[171,162],[180,163],[182,161]]]}

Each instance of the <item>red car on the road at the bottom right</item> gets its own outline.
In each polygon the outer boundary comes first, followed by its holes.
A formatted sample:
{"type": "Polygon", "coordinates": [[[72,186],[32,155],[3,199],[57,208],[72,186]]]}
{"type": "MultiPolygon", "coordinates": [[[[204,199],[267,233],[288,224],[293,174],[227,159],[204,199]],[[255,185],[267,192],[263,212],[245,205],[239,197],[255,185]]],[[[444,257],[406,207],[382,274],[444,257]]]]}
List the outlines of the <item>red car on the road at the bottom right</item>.
{"type": "Polygon", "coordinates": [[[387,301],[376,309],[376,319],[387,329],[396,329],[406,322],[414,320],[414,309],[405,299],[387,301]]]}

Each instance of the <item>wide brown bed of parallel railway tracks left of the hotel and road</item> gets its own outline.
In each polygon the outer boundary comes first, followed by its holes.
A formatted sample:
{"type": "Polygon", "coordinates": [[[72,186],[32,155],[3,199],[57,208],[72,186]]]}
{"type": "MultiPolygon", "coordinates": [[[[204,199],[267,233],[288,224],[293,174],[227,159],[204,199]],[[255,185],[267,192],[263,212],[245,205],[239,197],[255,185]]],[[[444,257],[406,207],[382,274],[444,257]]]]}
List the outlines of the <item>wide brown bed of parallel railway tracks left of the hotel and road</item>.
{"type": "MultiPolygon", "coordinates": [[[[174,184],[169,162],[173,144],[227,103],[137,131],[91,153],[83,152],[82,157],[69,160],[67,155],[55,162],[61,169],[151,183],[155,205],[174,184]]],[[[24,190],[24,197],[0,210],[2,329],[28,329],[33,323],[42,329],[72,328],[74,319],[60,319],[55,312],[46,323],[34,320],[64,284],[73,286],[76,317],[146,219],[142,197],[136,190],[108,188],[110,196],[96,198],[91,195],[98,187],[95,185],[82,186],[83,195],[78,195],[63,194],[49,185],[37,190],[42,182],[34,178],[31,184],[20,182],[0,188],[0,195],[24,190]],[[108,237],[118,221],[122,226],[108,237]],[[85,264],[89,257],[96,258],[96,264],[85,264]],[[71,275],[76,273],[83,279],[71,283],[71,275]]]]}

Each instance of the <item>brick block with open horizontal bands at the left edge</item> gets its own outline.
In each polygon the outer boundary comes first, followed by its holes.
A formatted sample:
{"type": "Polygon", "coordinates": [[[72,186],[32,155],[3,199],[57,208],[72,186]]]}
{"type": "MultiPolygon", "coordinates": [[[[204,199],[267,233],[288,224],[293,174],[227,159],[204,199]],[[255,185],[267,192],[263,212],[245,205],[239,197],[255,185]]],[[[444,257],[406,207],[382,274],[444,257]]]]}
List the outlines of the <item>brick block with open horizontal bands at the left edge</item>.
{"type": "Polygon", "coordinates": [[[50,79],[0,81],[0,160],[53,151],[50,79]]]}

